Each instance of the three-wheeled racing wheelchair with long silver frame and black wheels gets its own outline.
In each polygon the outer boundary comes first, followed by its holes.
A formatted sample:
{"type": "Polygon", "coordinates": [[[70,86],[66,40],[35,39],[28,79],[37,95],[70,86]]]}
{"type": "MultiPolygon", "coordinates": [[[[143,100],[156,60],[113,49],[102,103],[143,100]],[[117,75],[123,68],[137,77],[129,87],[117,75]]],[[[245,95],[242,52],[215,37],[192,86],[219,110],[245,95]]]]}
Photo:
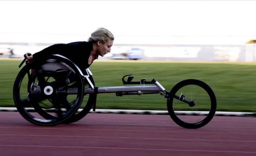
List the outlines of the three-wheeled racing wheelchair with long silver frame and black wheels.
{"type": "Polygon", "coordinates": [[[129,86],[96,87],[90,69],[82,71],[62,55],[46,56],[33,62],[24,59],[19,67],[24,62],[13,85],[13,100],[22,117],[38,126],[79,121],[91,109],[95,111],[97,94],[101,93],[115,93],[116,96],[160,94],[167,99],[170,117],[184,128],[203,127],[215,115],[215,94],[200,80],[180,81],[168,92],[155,79],[133,81],[133,76],[125,75],[122,82],[129,86]],[[86,105],[78,111],[83,102],[86,105]],[[184,115],[188,112],[191,113],[189,119],[184,115]]]}

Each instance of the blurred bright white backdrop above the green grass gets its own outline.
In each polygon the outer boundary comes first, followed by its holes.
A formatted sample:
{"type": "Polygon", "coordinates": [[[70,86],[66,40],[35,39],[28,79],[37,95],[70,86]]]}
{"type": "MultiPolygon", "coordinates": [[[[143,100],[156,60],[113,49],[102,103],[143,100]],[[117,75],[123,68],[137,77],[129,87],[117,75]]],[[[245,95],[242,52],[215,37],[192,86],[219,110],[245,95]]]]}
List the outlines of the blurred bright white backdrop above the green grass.
{"type": "Polygon", "coordinates": [[[256,1],[0,1],[0,57],[87,41],[115,41],[99,59],[256,61],[256,1]]]}

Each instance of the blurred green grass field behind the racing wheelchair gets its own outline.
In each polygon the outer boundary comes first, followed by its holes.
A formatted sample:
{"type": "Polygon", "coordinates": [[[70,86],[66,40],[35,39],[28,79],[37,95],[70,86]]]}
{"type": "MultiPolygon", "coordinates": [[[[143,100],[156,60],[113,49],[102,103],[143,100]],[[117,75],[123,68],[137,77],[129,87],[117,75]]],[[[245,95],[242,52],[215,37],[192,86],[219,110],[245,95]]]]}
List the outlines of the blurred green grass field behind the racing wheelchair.
{"type": "MultiPolygon", "coordinates": [[[[0,60],[0,107],[15,107],[12,89],[20,62],[0,60]]],[[[121,78],[131,73],[134,81],[155,78],[169,91],[179,81],[202,80],[216,95],[217,111],[256,112],[255,63],[96,60],[90,70],[98,87],[124,86],[121,78]]],[[[96,109],[167,110],[166,98],[159,94],[117,97],[114,93],[98,94],[96,109]]]]}

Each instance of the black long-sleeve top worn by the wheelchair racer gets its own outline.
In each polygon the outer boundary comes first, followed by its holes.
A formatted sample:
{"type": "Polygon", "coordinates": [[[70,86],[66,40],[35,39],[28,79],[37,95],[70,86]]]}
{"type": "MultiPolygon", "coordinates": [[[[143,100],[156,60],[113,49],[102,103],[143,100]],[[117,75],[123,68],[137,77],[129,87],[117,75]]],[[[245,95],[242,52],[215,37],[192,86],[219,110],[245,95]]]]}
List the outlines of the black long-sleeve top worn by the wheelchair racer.
{"type": "MultiPolygon", "coordinates": [[[[88,59],[92,51],[92,42],[72,42],[67,44],[55,44],[33,54],[33,59],[37,60],[44,56],[59,54],[74,62],[79,68],[88,68],[88,59]]],[[[98,55],[94,57],[94,60],[98,55]]]]}

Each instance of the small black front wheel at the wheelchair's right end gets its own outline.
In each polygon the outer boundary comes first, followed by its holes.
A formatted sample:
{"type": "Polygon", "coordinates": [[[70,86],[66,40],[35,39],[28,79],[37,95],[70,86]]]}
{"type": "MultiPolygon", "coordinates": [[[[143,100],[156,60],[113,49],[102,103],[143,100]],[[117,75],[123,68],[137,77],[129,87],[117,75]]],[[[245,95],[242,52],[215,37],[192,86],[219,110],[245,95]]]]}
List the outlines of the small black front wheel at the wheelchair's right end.
{"type": "Polygon", "coordinates": [[[184,128],[201,128],[211,121],[217,107],[212,89],[204,82],[195,79],[183,80],[176,84],[171,94],[190,101],[169,96],[167,109],[175,123],[184,128]]]}

